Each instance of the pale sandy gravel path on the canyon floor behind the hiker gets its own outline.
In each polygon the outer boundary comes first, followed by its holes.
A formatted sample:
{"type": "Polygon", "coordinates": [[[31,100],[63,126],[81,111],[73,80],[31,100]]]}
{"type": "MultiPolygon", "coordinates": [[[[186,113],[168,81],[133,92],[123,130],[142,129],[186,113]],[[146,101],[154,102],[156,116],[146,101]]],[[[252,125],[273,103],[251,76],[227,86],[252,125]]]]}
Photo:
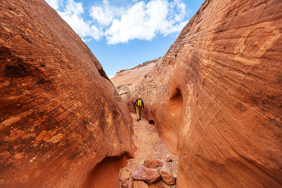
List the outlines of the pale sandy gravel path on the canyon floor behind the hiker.
{"type": "Polygon", "coordinates": [[[128,159],[126,166],[120,169],[122,177],[129,177],[129,173],[143,160],[148,159],[166,159],[170,156],[173,159],[172,170],[173,174],[177,174],[178,168],[178,157],[171,154],[166,145],[162,142],[159,137],[159,133],[155,130],[154,125],[149,124],[146,120],[136,121],[136,114],[131,113],[133,119],[133,130],[134,135],[132,140],[137,147],[135,157],[128,159]]]}

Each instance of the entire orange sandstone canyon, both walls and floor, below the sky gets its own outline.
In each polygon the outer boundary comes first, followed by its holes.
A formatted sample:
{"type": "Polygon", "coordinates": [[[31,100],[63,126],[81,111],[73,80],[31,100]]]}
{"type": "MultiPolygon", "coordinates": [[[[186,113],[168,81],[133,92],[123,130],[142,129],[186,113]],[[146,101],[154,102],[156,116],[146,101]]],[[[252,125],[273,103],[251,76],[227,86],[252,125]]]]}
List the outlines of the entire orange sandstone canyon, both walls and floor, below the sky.
{"type": "Polygon", "coordinates": [[[206,0],[162,58],[109,79],[44,0],[2,0],[0,187],[282,187],[281,10],[206,0]]]}

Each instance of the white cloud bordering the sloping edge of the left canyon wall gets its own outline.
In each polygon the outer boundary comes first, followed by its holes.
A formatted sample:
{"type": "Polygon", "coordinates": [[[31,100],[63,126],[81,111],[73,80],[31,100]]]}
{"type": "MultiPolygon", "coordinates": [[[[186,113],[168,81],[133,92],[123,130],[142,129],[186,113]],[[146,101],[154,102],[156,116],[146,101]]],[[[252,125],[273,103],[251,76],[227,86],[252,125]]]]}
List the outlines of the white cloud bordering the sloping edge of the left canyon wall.
{"type": "Polygon", "coordinates": [[[84,13],[84,10],[81,2],[76,3],[73,0],[68,0],[64,12],[57,12],[79,36],[89,36],[95,40],[100,40],[103,36],[101,29],[83,20],[81,14],[84,13]]]}

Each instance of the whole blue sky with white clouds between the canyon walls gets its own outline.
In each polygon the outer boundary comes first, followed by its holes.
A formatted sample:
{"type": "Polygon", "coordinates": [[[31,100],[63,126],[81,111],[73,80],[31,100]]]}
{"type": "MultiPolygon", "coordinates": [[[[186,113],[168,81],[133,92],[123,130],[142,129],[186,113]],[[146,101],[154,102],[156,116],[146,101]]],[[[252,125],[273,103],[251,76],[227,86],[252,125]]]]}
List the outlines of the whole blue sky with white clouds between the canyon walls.
{"type": "Polygon", "coordinates": [[[204,0],[45,0],[109,77],[165,55],[204,0]]]}

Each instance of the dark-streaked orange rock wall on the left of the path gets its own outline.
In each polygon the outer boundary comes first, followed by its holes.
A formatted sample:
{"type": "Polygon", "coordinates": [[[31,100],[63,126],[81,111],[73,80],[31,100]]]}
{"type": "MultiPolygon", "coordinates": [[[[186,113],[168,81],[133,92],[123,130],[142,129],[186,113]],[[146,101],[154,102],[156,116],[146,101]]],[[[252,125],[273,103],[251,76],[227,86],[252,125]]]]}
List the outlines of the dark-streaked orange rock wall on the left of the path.
{"type": "Polygon", "coordinates": [[[118,187],[132,120],[98,60],[43,0],[0,12],[0,186],[118,187]]]}

